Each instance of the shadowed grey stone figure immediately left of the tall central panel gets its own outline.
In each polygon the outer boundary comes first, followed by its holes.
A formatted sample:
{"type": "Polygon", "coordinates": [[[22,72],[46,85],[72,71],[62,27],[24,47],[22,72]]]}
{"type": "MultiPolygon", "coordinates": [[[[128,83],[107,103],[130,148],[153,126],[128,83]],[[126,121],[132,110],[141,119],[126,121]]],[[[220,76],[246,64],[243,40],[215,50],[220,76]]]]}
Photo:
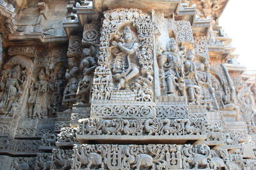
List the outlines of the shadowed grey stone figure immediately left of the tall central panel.
{"type": "Polygon", "coordinates": [[[90,48],[83,49],[84,58],[79,66],[81,72],[83,73],[83,77],[78,83],[77,97],[81,103],[88,103],[89,101],[90,95],[88,92],[90,92],[90,85],[93,76],[92,74],[94,69],[97,67],[97,62],[93,57],[90,56],[92,55],[91,51],[92,50],[90,48]]]}

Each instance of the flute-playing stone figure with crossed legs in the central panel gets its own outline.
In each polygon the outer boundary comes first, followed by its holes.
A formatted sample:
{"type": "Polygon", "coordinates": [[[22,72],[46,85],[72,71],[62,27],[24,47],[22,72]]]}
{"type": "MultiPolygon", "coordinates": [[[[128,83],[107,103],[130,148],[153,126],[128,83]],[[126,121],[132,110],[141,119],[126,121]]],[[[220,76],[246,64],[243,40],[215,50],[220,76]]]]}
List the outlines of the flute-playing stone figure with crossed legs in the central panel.
{"type": "Polygon", "coordinates": [[[140,47],[139,43],[134,42],[134,35],[131,27],[126,26],[122,37],[116,36],[113,47],[118,47],[119,52],[115,53],[115,59],[111,66],[113,79],[118,81],[117,89],[127,88],[127,83],[140,73],[139,67],[132,63],[136,50],[140,47]]]}

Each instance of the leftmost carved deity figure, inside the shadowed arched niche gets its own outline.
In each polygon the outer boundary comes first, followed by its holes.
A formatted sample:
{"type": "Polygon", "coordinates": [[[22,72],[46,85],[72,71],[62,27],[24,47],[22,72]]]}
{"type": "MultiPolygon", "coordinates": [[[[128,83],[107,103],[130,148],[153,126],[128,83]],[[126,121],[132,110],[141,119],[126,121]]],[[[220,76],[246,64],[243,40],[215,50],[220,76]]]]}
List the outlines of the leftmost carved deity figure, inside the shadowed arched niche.
{"type": "MultiPolygon", "coordinates": [[[[3,106],[1,108],[6,108],[4,115],[10,115],[13,104],[17,102],[17,97],[20,94],[20,66],[17,65],[13,67],[12,71],[9,74],[9,77],[6,79],[5,83],[5,92],[3,96],[3,106]]],[[[2,109],[3,111],[4,109],[2,109]]]]}

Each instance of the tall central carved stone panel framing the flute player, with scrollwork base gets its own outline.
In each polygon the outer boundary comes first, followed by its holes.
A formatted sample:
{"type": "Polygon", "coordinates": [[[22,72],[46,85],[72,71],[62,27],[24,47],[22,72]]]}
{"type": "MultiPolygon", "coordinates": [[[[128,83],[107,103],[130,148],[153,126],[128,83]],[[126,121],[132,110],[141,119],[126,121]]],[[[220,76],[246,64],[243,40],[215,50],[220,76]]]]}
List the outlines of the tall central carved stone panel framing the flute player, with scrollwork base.
{"type": "Polygon", "coordinates": [[[134,9],[106,11],[104,17],[91,114],[93,117],[152,116],[154,107],[147,103],[154,99],[154,24],[149,15],[134,9]]]}

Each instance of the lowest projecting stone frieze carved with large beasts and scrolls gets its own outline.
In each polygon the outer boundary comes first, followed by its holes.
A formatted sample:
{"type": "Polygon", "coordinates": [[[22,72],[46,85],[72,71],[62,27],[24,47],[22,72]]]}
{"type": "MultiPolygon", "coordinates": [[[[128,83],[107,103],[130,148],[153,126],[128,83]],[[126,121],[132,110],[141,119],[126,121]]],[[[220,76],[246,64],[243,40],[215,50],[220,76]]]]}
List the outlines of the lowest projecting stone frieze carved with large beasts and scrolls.
{"type": "Polygon", "coordinates": [[[72,169],[221,169],[233,157],[207,145],[83,144],[73,151],[72,169]]]}

